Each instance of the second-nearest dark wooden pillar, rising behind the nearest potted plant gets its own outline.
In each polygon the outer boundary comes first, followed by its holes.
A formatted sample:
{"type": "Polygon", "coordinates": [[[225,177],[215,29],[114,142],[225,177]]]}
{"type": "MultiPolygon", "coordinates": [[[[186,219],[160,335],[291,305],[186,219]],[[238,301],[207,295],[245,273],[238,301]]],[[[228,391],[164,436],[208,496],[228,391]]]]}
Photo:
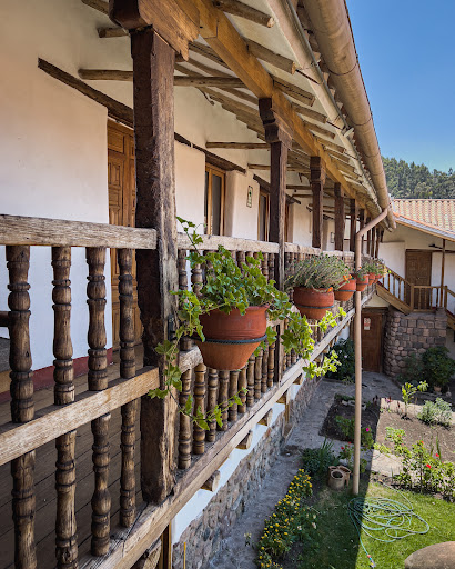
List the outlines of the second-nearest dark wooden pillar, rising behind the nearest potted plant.
{"type": "MultiPolygon", "coordinates": [[[[273,260],[273,272],[270,272],[270,278],[274,278],[277,289],[283,290],[285,280],[286,164],[287,151],[292,144],[293,133],[290,126],[276,113],[272,99],[260,99],[259,109],[265,129],[265,140],[270,144],[269,241],[279,243],[277,254],[270,256],[272,259],[275,257],[273,260]]],[[[279,337],[282,326],[277,327],[279,337]]],[[[275,349],[276,381],[280,380],[282,375],[283,358],[284,350],[277,343],[275,349]]]]}

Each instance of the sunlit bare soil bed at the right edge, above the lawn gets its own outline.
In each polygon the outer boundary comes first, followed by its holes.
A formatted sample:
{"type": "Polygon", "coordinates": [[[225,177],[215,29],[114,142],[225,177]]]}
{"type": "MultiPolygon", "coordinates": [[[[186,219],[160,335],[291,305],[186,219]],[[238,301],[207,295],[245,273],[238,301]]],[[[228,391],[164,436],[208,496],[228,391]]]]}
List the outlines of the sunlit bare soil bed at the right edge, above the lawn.
{"type": "MultiPolygon", "coordinates": [[[[394,411],[383,410],[381,413],[376,442],[385,442],[385,429],[386,427],[393,427],[394,429],[403,429],[406,433],[404,442],[407,447],[411,447],[414,442],[423,440],[426,448],[434,448],[436,450],[436,436],[439,440],[441,457],[444,461],[455,461],[455,428],[443,427],[442,425],[435,425],[431,427],[422,422],[417,417],[411,416],[410,418],[403,418],[394,411]]],[[[387,446],[391,446],[387,442],[387,446]]]]}

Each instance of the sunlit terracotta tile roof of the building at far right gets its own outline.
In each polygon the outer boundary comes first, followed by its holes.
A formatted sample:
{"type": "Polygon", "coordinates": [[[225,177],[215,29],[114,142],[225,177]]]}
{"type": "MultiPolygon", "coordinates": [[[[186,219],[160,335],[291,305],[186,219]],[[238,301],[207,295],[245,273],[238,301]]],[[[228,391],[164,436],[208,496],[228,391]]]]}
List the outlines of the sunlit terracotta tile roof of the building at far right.
{"type": "Polygon", "coordinates": [[[439,231],[455,233],[455,200],[393,200],[397,220],[415,221],[439,231]]]}

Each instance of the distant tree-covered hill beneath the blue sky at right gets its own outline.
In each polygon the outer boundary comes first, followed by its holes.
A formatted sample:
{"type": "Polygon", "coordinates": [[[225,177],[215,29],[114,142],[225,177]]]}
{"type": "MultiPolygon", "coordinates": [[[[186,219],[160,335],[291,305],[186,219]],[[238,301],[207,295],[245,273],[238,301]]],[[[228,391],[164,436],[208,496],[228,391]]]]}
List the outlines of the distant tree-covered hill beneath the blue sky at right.
{"type": "Polygon", "coordinates": [[[388,191],[393,198],[455,199],[455,172],[433,170],[425,164],[408,164],[396,158],[384,158],[388,191]]]}

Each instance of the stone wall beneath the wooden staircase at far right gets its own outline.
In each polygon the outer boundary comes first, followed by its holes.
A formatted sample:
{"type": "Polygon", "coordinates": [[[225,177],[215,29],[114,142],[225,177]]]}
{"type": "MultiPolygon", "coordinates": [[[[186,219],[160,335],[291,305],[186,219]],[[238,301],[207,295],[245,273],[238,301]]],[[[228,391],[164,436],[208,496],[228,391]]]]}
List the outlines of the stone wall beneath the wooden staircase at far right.
{"type": "Polygon", "coordinates": [[[434,346],[445,346],[446,332],[445,310],[403,315],[391,307],[385,325],[384,372],[396,377],[412,353],[423,353],[434,346]]]}

